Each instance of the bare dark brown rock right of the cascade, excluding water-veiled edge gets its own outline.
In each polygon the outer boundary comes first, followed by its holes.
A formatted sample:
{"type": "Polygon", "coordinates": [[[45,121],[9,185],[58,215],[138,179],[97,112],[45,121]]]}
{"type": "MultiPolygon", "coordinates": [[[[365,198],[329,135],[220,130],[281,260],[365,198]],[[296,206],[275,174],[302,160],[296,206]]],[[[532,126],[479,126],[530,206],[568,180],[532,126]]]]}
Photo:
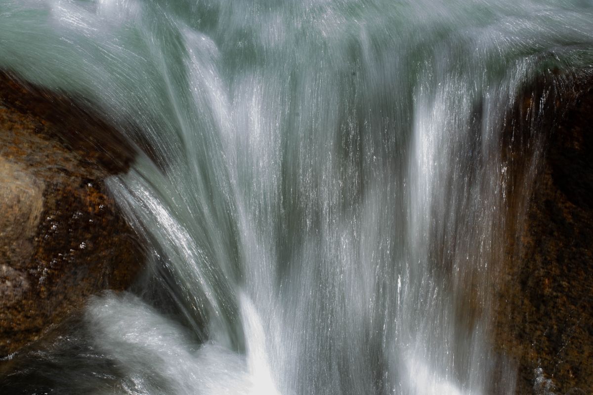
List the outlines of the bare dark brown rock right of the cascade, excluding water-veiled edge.
{"type": "Polygon", "coordinates": [[[517,362],[517,394],[593,393],[593,79],[577,86],[553,104],[565,112],[500,288],[496,342],[517,362]]]}

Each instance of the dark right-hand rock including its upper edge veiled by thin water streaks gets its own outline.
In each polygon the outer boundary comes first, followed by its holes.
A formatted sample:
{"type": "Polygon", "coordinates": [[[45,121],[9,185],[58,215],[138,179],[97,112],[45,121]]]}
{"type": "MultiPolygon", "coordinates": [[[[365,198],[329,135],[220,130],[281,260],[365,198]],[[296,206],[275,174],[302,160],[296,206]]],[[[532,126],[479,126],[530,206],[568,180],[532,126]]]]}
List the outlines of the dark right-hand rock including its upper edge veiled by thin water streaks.
{"type": "Polygon", "coordinates": [[[516,99],[502,146],[516,163],[509,217],[524,220],[509,222],[495,348],[517,364],[517,394],[591,390],[593,70],[548,70],[516,99]],[[534,137],[543,145],[527,183],[534,137]]]}

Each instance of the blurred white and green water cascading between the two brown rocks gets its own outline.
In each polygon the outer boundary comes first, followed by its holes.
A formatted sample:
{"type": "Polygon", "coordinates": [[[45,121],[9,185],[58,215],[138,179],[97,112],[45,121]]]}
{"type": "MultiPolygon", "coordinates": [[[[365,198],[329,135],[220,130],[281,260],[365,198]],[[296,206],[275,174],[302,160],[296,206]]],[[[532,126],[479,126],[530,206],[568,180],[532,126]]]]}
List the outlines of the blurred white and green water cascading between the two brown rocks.
{"type": "Polygon", "coordinates": [[[91,300],[36,374],[58,393],[514,393],[490,343],[502,126],[534,72],[591,65],[592,20],[587,0],[0,2],[0,67],[151,147],[109,182],[146,281],[91,300]]]}

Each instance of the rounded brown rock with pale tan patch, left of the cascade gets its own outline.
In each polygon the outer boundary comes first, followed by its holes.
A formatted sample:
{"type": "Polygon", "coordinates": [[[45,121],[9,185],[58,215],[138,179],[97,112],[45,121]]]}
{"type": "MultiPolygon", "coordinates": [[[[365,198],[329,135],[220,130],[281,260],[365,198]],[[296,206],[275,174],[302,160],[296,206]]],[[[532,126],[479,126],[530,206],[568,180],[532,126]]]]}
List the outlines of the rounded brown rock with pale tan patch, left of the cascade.
{"type": "Polygon", "coordinates": [[[132,153],[72,98],[0,72],[0,357],[135,278],[141,245],[104,185],[132,153]]]}

